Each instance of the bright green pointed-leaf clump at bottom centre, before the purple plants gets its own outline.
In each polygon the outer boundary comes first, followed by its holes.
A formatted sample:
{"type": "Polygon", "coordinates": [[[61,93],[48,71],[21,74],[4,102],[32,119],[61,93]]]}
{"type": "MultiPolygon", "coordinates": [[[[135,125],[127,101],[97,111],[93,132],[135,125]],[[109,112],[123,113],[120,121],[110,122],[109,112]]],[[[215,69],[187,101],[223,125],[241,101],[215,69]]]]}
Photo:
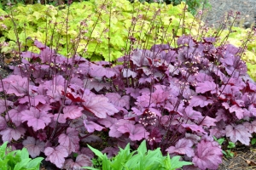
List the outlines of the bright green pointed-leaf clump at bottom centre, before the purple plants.
{"type": "MultiPolygon", "coordinates": [[[[180,156],[173,156],[172,159],[169,155],[162,156],[160,148],[156,150],[147,150],[146,141],[140,144],[137,150],[131,152],[130,144],[125,146],[125,149],[119,148],[119,153],[117,156],[109,159],[106,154],[102,154],[101,151],[92,148],[89,145],[90,150],[92,150],[96,156],[98,156],[102,161],[102,167],[99,169],[105,170],[118,170],[118,169],[166,169],[175,170],[181,168],[185,165],[191,165],[188,161],[179,161],[180,156]]],[[[87,169],[97,170],[94,167],[84,167],[87,169]]]]}

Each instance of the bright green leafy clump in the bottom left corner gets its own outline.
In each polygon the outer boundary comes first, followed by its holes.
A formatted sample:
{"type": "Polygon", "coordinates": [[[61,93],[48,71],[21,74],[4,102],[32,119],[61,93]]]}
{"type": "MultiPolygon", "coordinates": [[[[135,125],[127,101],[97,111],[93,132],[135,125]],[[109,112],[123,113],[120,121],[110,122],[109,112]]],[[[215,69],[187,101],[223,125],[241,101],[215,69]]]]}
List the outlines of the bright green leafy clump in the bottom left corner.
{"type": "Polygon", "coordinates": [[[1,169],[9,170],[22,170],[22,169],[31,169],[37,170],[40,167],[40,163],[44,160],[43,157],[37,157],[32,159],[29,157],[28,151],[26,148],[22,150],[13,150],[7,147],[8,142],[4,142],[0,146],[0,164],[1,169]]]}

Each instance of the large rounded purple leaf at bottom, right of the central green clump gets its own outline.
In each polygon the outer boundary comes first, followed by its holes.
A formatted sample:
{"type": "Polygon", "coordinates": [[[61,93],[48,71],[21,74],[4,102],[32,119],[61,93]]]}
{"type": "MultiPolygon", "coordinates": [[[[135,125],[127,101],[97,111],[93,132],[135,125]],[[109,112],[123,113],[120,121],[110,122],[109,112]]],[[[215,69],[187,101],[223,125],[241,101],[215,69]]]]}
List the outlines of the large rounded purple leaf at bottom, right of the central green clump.
{"type": "Polygon", "coordinates": [[[195,157],[192,159],[195,166],[202,170],[218,169],[218,165],[222,163],[222,150],[215,141],[201,140],[197,144],[195,157]]]}

